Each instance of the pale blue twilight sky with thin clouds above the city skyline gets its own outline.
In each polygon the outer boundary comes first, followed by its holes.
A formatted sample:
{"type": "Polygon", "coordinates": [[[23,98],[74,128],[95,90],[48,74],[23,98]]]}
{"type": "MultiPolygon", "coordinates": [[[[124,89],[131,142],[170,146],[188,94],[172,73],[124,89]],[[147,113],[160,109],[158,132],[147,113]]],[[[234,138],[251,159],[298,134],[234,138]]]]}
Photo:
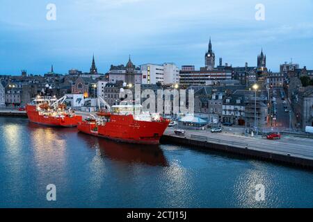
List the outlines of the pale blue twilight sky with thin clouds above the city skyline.
{"type": "Polygon", "coordinates": [[[209,36],[216,63],[255,66],[263,47],[273,71],[291,58],[313,69],[312,11],[312,0],[1,0],[0,74],[88,71],[93,53],[102,73],[129,54],[136,65],[201,67],[209,36]],[[257,3],[265,21],[255,20],[257,3]]]}

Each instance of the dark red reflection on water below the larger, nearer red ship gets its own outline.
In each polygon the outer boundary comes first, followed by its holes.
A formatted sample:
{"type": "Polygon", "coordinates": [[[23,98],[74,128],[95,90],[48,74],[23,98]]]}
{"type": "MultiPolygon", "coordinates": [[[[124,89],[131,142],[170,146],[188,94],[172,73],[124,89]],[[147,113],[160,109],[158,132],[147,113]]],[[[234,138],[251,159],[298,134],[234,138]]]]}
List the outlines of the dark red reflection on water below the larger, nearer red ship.
{"type": "Polygon", "coordinates": [[[168,166],[166,157],[159,146],[114,142],[109,139],[90,137],[90,135],[84,135],[83,133],[79,133],[79,137],[84,139],[90,147],[99,148],[102,157],[111,160],[150,166],[168,166]]]}

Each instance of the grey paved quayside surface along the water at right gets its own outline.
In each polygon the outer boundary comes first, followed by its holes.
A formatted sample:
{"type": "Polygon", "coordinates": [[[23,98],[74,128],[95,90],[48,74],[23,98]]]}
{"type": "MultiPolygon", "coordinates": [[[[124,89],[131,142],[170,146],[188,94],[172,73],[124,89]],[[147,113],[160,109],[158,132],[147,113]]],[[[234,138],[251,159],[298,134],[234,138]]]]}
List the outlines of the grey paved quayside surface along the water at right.
{"type": "MultiPolygon", "coordinates": [[[[166,135],[176,136],[175,128],[168,128],[166,135]]],[[[291,155],[313,160],[313,140],[301,137],[292,137],[282,135],[282,139],[268,140],[263,137],[246,137],[234,133],[211,133],[208,130],[194,131],[186,130],[186,138],[203,139],[207,137],[208,142],[216,142],[218,144],[229,144],[232,146],[250,149],[257,151],[266,151],[268,153],[279,153],[282,155],[291,155]],[[198,137],[198,138],[197,138],[198,137]]]]}

